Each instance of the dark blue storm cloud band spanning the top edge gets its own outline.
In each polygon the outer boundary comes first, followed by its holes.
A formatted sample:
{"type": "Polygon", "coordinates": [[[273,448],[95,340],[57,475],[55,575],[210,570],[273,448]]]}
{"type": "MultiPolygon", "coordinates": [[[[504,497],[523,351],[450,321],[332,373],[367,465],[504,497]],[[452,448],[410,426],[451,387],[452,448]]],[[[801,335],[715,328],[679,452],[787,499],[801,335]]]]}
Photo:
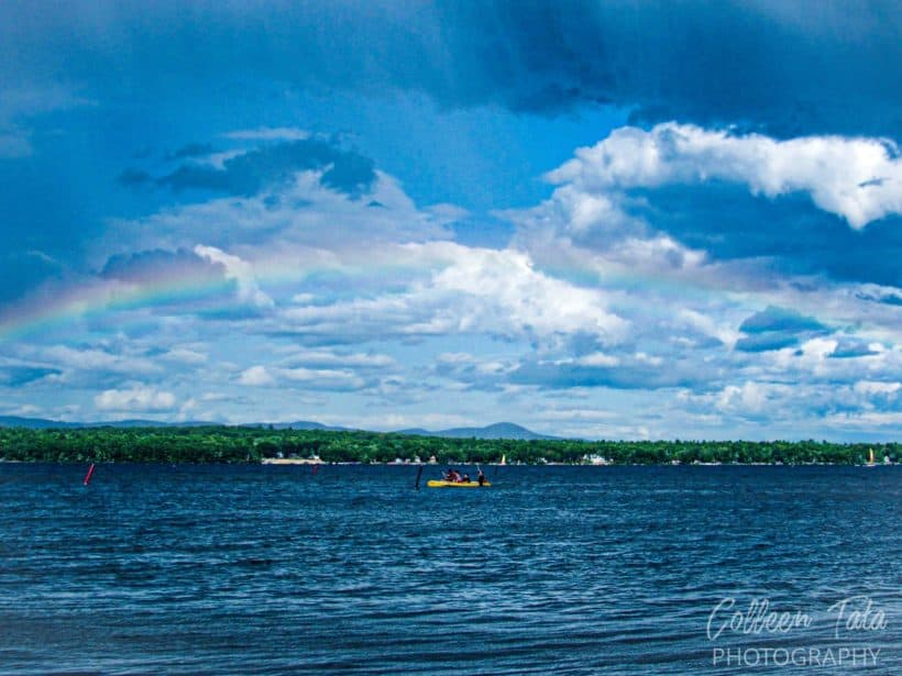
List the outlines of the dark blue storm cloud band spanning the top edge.
{"type": "Polygon", "coordinates": [[[416,90],[448,107],[557,113],[609,102],[635,120],[787,135],[902,129],[893,0],[160,2],[153,19],[112,2],[0,11],[11,73],[132,96],[251,76],[416,90]]]}

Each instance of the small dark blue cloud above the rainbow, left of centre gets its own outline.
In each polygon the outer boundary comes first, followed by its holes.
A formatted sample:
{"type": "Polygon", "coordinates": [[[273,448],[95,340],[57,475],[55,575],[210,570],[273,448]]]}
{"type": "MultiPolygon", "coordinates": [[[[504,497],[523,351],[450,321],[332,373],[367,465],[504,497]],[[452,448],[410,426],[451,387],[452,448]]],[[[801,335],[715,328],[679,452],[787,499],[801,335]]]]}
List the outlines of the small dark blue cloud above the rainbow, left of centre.
{"type": "Polygon", "coordinates": [[[305,138],[265,146],[230,157],[222,168],[184,164],[157,179],[175,191],[197,189],[250,197],[288,181],[297,171],[324,169],[320,182],[358,197],[369,190],[376,174],[373,160],[321,138],[305,138]]]}

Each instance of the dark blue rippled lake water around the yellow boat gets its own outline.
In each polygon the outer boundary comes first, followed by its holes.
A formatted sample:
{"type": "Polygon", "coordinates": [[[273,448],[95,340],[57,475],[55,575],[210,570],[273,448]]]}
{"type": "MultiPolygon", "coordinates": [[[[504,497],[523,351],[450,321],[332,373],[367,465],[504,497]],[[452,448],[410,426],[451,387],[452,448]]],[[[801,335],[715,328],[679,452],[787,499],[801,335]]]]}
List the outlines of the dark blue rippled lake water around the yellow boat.
{"type": "Polygon", "coordinates": [[[84,472],[0,465],[1,673],[902,668],[899,467],[84,472]],[[756,599],[809,624],[708,638],[756,599]]]}

